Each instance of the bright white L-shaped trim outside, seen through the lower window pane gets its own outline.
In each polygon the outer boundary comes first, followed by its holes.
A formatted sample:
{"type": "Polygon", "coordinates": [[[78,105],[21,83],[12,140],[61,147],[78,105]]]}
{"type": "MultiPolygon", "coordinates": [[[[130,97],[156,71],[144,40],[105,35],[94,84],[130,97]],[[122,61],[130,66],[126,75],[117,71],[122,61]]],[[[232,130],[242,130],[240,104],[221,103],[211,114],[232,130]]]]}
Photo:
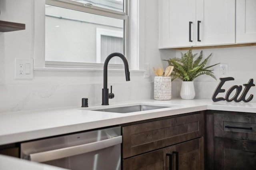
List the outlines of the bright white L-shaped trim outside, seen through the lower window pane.
{"type": "Polygon", "coordinates": [[[101,36],[123,38],[123,35],[122,31],[96,28],[96,63],[101,63],[101,36]]]}

